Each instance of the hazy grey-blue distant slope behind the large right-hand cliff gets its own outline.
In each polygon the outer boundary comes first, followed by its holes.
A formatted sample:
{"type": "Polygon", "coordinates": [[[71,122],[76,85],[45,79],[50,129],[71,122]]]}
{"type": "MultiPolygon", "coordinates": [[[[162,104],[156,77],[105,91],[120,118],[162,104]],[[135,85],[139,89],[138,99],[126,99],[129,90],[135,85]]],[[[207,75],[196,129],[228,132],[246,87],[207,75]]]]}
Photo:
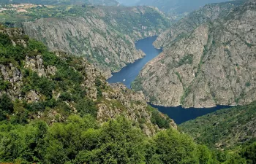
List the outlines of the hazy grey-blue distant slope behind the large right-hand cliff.
{"type": "Polygon", "coordinates": [[[219,4],[206,4],[203,8],[191,12],[187,17],[184,17],[177,23],[173,23],[170,28],[159,35],[154,42],[154,46],[157,48],[162,47],[164,49],[170,47],[173,42],[189,35],[198,26],[216,20],[219,17],[225,17],[225,15],[228,15],[233,9],[241,4],[244,4],[244,0],[227,1],[219,4]]]}

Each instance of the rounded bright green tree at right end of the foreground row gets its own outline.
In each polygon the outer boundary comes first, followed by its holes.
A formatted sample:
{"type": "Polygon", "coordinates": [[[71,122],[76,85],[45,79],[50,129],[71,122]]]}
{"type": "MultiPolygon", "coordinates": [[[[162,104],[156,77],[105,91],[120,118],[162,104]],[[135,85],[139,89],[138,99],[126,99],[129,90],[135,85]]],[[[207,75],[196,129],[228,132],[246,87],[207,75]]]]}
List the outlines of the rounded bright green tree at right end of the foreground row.
{"type": "Polygon", "coordinates": [[[173,129],[159,132],[146,149],[147,163],[198,163],[196,144],[173,129]]]}

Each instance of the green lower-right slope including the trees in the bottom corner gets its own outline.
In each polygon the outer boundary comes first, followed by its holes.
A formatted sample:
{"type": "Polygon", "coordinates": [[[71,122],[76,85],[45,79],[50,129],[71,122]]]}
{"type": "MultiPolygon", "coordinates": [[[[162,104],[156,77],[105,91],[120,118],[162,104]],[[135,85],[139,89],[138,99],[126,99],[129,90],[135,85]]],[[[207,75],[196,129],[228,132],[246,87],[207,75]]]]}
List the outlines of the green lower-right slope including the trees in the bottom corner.
{"type": "Polygon", "coordinates": [[[179,130],[195,138],[197,144],[210,147],[219,163],[251,164],[256,162],[255,120],[253,102],[184,122],[179,130]]]}

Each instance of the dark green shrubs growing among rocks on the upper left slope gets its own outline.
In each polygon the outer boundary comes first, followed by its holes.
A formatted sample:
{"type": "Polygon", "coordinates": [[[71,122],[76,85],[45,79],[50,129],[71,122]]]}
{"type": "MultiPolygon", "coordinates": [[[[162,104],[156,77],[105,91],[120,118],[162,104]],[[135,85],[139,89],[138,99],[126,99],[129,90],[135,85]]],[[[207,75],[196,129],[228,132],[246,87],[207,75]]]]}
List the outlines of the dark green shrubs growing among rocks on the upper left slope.
{"type": "MultiPolygon", "coordinates": [[[[6,28],[10,34],[15,34],[18,29],[6,28]]],[[[31,90],[34,90],[40,99],[37,102],[26,102],[24,100],[15,101],[15,104],[2,104],[10,100],[9,96],[4,94],[0,104],[0,121],[11,120],[11,122],[29,122],[29,117],[37,112],[48,112],[51,109],[58,111],[56,117],[68,117],[72,113],[71,106],[75,106],[80,116],[91,114],[92,117],[97,117],[97,103],[86,97],[88,88],[82,87],[84,72],[83,58],[72,57],[69,55],[61,55],[57,57],[53,52],[48,52],[47,47],[41,42],[29,39],[27,36],[8,36],[0,33],[0,63],[4,66],[17,67],[23,74],[23,86],[20,87],[21,95],[26,97],[31,90]],[[27,46],[23,44],[12,45],[11,39],[16,42],[22,39],[27,46]],[[37,74],[36,71],[24,68],[24,60],[26,56],[29,58],[37,58],[42,56],[43,64],[47,66],[55,66],[56,72],[48,77],[37,74]],[[81,72],[79,72],[80,70],[81,72]],[[56,99],[53,95],[53,90],[60,93],[59,98],[56,99]],[[16,107],[16,108],[15,108],[16,107]]],[[[18,42],[17,42],[18,43],[18,42]]],[[[0,89],[8,93],[12,90],[12,84],[9,81],[2,79],[0,72],[0,89]]],[[[105,83],[96,80],[98,93],[103,90],[108,90],[105,83]]],[[[2,93],[0,91],[0,93],[2,93]]],[[[59,120],[59,118],[57,119],[59,120]]],[[[50,122],[50,118],[45,118],[46,122],[50,122]]]]}

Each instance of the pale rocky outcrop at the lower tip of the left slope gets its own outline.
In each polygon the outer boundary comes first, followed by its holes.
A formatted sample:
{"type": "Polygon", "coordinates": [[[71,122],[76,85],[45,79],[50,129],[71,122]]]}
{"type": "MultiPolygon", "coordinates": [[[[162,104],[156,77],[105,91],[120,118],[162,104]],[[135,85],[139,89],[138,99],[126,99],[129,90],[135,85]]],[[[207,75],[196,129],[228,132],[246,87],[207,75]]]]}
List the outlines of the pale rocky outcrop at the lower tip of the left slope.
{"type": "MultiPolygon", "coordinates": [[[[121,83],[112,84],[110,87],[109,92],[103,93],[108,101],[102,101],[101,104],[98,104],[97,120],[104,122],[110,118],[124,115],[129,120],[139,122],[144,133],[148,136],[154,135],[159,130],[157,125],[151,123],[151,112],[147,109],[148,104],[142,92],[136,93],[121,83]]],[[[166,116],[162,114],[162,117],[165,118],[166,116]]],[[[170,121],[170,127],[177,128],[173,120],[170,121]]]]}

